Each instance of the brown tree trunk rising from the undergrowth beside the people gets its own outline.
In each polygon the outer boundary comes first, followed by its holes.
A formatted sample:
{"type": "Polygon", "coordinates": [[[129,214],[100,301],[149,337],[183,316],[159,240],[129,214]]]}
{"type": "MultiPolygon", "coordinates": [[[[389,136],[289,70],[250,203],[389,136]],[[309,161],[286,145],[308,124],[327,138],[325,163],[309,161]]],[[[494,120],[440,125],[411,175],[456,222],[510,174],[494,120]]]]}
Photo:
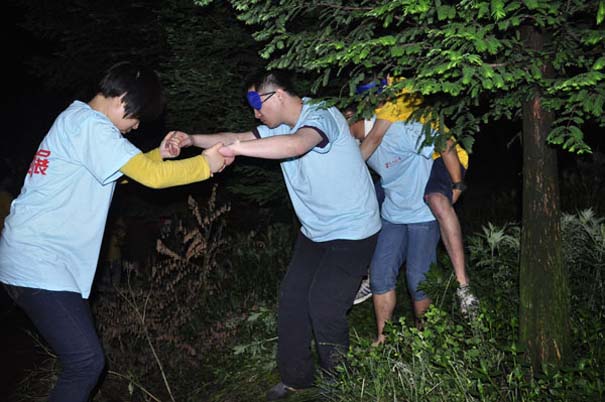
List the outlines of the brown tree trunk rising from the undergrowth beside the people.
{"type": "MultiPolygon", "coordinates": [[[[524,27],[528,48],[540,51],[544,36],[524,27]]],[[[548,74],[548,67],[543,69],[548,74]]],[[[523,104],[523,222],[520,266],[520,336],[532,367],[561,366],[569,346],[569,288],[561,251],[556,151],[546,137],[552,113],[535,89],[523,104]]]]}

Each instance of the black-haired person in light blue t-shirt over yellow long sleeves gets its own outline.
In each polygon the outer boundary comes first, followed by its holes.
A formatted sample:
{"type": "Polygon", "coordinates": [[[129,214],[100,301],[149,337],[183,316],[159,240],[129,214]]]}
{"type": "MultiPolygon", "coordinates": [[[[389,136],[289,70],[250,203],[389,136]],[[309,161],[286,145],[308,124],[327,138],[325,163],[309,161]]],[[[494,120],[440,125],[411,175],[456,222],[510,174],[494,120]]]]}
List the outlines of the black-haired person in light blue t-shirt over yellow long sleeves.
{"type": "Polygon", "coordinates": [[[4,221],[0,282],[61,363],[50,402],[88,401],[104,369],[87,299],[116,180],[126,174],[162,188],[205,180],[229,162],[219,146],[163,161],[179,153],[177,132],[145,154],[123,137],[163,106],[155,72],[110,67],[89,102],[76,100],[56,118],[4,221]]]}

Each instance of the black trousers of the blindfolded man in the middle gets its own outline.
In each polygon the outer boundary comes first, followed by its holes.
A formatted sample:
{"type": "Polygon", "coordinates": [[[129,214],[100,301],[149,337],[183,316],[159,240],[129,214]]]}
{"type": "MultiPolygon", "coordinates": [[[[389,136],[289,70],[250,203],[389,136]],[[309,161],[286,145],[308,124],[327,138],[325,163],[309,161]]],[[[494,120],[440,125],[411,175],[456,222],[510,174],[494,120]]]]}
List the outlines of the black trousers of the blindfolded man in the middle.
{"type": "Polygon", "coordinates": [[[284,384],[313,384],[313,338],[319,364],[328,373],[346,353],[347,311],[367,275],[376,239],[318,243],[299,234],[279,296],[277,362],[284,384]]]}

